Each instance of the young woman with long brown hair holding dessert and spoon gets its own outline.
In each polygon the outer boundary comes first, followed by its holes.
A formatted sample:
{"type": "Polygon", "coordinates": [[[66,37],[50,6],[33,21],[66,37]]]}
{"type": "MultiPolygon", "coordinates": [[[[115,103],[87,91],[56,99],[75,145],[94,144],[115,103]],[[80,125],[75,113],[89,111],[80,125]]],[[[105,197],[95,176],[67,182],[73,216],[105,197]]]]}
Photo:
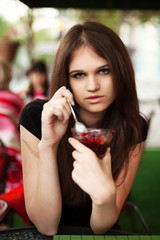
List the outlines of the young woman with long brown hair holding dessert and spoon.
{"type": "Polygon", "coordinates": [[[50,99],[25,106],[20,133],[26,210],[38,230],[108,231],[130,192],[147,136],[131,60],[116,33],[96,22],[68,31],[55,57],[50,99]],[[87,127],[115,130],[102,159],[72,137],[67,99],[87,127]]]}

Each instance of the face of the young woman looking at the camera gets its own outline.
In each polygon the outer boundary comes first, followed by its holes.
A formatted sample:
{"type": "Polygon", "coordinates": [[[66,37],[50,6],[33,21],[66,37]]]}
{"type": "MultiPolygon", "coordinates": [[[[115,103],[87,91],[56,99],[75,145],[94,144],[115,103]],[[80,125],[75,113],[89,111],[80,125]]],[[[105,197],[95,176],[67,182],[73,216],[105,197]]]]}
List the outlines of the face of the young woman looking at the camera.
{"type": "Polygon", "coordinates": [[[69,64],[70,86],[80,114],[104,113],[115,99],[113,77],[106,59],[91,48],[76,50],[69,64]]]}

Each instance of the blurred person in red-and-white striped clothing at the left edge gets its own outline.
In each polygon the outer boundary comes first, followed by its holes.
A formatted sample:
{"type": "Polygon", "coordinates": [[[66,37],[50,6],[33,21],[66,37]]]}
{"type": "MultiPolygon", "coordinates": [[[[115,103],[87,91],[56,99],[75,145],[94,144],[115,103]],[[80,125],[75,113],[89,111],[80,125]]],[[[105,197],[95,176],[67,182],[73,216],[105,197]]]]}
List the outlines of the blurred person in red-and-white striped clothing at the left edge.
{"type": "Polygon", "coordinates": [[[5,188],[0,189],[0,192],[7,192],[22,182],[20,136],[17,124],[24,101],[18,94],[10,91],[11,79],[11,64],[0,59],[0,140],[8,154],[5,188]]]}

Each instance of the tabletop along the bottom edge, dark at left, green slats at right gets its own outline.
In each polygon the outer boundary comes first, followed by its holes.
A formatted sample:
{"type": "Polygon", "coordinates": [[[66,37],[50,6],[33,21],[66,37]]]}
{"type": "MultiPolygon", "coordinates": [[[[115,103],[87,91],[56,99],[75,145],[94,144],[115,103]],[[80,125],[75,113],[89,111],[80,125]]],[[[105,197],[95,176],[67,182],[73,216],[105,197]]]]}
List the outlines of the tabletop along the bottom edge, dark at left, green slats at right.
{"type": "Polygon", "coordinates": [[[122,235],[120,232],[113,235],[114,232],[109,232],[109,235],[69,235],[60,234],[55,236],[45,236],[37,231],[35,227],[25,228],[9,228],[6,230],[0,230],[0,240],[160,240],[160,236],[154,235],[122,235]],[[111,233],[111,235],[110,235],[111,233]]]}

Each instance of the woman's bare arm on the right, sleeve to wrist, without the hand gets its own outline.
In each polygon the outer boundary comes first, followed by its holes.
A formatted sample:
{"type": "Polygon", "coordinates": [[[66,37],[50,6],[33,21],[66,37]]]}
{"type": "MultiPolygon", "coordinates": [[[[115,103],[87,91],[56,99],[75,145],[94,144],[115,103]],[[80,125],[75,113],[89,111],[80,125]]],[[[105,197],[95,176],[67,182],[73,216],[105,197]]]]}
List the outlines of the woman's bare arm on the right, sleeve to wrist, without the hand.
{"type": "Polygon", "coordinates": [[[129,169],[124,182],[119,185],[124,176],[124,170],[121,171],[116,183],[115,183],[115,195],[111,192],[112,197],[103,204],[97,205],[93,202],[93,210],[91,215],[91,227],[97,233],[102,233],[108,231],[118,220],[121,209],[125,203],[125,200],[131,190],[132,184],[134,182],[140,159],[142,156],[144,143],[137,145],[129,160],[129,169]],[[117,187],[116,187],[117,186],[117,187]],[[103,219],[103,220],[102,220],[103,219]]]}

